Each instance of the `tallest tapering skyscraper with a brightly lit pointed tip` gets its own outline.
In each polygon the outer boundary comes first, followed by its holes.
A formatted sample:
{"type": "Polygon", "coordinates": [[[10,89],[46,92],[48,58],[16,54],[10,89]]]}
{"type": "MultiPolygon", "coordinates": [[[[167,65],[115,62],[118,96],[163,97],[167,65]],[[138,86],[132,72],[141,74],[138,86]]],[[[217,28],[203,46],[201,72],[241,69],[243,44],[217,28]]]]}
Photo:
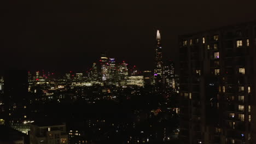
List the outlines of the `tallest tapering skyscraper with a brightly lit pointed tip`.
{"type": "Polygon", "coordinates": [[[155,86],[161,86],[163,83],[162,75],[162,46],[159,30],[156,32],[156,49],[155,49],[155,68],[154,68],[154,82],[155,86]]]}

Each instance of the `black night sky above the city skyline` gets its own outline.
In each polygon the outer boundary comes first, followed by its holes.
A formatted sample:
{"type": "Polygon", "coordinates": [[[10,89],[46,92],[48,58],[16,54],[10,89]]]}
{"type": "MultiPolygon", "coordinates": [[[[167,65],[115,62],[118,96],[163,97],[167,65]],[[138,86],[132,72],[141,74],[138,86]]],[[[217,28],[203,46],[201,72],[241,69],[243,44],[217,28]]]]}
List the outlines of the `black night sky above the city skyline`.
{"type": "Polygon", "coordinates": [[[100,53],[152,69],[156,29],[164,59],[177,38],[256,20],[256,1],[8,1],[0,4],[1,69],[86,69],[100,53]]]}

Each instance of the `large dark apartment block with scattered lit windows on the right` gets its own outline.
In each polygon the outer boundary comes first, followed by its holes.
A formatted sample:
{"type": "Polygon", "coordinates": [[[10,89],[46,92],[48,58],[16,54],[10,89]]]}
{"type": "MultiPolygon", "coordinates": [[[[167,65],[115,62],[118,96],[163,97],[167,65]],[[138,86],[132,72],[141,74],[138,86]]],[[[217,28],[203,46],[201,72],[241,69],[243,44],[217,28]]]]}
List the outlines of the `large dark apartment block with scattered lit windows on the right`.
{"type": "Polygon", "coordinates": [[[179,44],[181,143],[256,143],[256,22],[179,44]]]}

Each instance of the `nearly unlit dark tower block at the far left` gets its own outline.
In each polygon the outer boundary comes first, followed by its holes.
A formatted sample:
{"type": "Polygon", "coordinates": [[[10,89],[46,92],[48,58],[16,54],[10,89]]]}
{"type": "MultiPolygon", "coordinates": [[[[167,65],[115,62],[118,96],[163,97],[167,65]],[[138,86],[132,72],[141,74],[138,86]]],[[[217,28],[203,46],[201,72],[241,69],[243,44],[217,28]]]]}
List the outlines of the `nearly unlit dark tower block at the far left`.
{"type": "Polygon", "coordinates": [[[26,70],[7,70],[4,74],[5,124],[22,133],[28,133],[30,111],[28,73],[26,70]]]}

